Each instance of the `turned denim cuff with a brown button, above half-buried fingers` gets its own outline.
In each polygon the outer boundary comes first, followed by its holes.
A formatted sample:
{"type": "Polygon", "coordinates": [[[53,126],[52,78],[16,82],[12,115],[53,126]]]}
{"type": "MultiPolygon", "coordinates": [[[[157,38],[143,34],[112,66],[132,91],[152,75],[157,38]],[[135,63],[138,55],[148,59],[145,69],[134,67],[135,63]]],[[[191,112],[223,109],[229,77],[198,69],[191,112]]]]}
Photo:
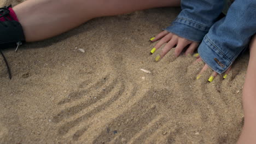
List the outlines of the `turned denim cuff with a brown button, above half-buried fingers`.
{"type": "Polygon", "coordinates": [[[218,74],[224,73],[232,64],[232,61],[230,61],[230,59],[212,43],[207,35],[200,44],[198,52],[202,61],[218,74]]]}

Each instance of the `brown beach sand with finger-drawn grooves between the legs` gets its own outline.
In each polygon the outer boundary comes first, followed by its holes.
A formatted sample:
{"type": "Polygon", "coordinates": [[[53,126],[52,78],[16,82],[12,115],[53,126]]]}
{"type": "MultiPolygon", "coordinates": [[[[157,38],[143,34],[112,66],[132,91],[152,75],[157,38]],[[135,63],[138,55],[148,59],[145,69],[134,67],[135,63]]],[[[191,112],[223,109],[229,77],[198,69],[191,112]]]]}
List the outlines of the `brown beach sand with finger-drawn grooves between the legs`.
{"type": "MultiPolygon", "coordinates": [[[[0,1],[9,3],[18,2],[0,1]]],[[[179,10],[101,17],[5,49],[13,79],[1,57],[0,143],[235,143],[248,53],[212,83],[210,69],[195,79],[203,63],[194,57],[172,50],[154,62],[148,40],[179,10]]]]}

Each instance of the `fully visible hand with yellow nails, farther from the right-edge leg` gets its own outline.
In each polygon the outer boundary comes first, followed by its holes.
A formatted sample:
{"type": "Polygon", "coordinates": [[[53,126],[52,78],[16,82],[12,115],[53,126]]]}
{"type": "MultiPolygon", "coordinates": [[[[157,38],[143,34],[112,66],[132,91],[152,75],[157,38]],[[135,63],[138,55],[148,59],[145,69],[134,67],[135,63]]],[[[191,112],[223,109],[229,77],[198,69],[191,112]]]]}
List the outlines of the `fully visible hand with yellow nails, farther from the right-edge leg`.
{"type": "Polygon", "coordinates": [[[194,53],[194,51],[197,49],[199,43],[195,41],[191,41],[182,37],[179,37],[176,34],[167,32],[167,31],[162,31],[155,37],[151,38],[150,41],[155,42],[160,40],[155,47],[150,51],[150,53],[154,53],[156,50],[158,50],[162,45],[166,44],[162,51],[160,52],[160,55],[156,56],[155,61],[160,61],[161,58],[163,58],[166,53],[168,53],[173,47],[175,47],[174,55],[178,57],[181,55],[181,52],[185,50],[185,55],[191,55],[194,53]]]}

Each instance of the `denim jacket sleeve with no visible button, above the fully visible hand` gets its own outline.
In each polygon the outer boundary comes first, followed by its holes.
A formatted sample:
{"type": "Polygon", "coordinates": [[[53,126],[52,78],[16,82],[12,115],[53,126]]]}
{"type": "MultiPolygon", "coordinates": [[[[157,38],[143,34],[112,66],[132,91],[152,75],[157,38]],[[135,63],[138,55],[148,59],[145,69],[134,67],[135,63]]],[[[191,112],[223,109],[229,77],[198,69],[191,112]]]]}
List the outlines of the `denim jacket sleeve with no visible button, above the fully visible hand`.
{"type": "Polygon", "coordinates": [[[224,0],[181,0],[181,13],[165,30],[200,43],[223,7],[224,0]]]}

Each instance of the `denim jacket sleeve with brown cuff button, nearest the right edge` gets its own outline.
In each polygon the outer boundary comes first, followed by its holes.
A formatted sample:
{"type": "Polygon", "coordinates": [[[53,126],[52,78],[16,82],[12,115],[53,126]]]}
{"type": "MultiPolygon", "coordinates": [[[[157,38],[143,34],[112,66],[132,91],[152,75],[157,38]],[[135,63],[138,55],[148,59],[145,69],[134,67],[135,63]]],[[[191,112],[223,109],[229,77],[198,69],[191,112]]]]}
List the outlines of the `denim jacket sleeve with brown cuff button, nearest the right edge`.
{"type": "Polygon", "coordinates": [[[222,74],[246,49],[256,33],[256,1],[236,0],[228,14],[211,27],[199,46],[202,60],[222,74]]]}

